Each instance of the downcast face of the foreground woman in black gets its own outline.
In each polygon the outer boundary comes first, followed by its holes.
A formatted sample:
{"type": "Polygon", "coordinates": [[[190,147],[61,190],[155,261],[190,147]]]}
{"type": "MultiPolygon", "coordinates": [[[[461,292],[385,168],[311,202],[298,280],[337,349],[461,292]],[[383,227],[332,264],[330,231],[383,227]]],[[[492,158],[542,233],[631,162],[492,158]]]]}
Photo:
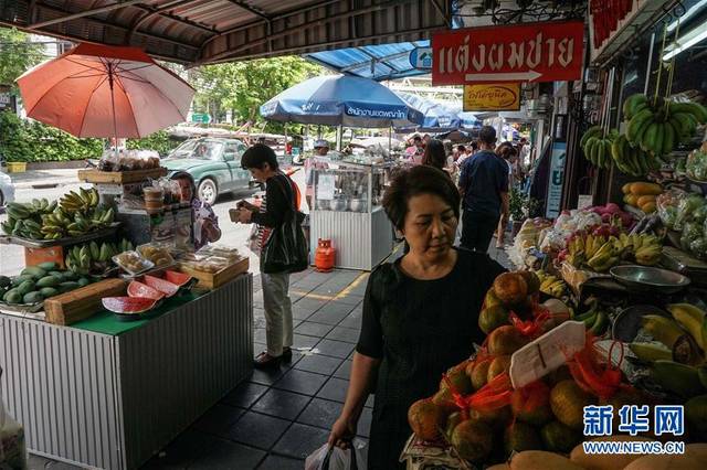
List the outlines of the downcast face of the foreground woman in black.
{"type": "Polygon", "coordinates": [[[435,194],[420,194],[408,201],[403,235],[410,252],[434,261],[444,258],[456,234],[452,207],[435,194]]]}

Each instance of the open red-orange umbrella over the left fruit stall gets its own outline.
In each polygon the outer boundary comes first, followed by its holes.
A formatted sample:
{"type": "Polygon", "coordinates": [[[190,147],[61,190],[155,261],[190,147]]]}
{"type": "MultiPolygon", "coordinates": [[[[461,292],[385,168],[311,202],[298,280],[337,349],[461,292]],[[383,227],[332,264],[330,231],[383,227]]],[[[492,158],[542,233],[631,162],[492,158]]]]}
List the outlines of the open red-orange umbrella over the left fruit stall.
{"type": "Polygon", "coordinates": [[[137,47],[80,44],[18,78],[28,116],[76,137],[139,138],[187,119],[194,89],[137,47]]]}

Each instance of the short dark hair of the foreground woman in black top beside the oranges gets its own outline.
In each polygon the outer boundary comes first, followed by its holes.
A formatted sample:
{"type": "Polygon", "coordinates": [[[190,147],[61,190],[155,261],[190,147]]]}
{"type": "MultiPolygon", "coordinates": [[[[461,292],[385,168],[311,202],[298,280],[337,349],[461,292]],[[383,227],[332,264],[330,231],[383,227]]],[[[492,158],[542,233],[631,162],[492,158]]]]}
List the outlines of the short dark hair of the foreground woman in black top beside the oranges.
{"type": "Polygon", "coordinates": [[[450,175],[434,167],[419,164],[400,171],[383,196],[383,209],[395,228],[404,228],[408,202],[410,197],[421,194],[441,197],[452,207],[454,216],[460,218],[460,192],[450,175]]]}

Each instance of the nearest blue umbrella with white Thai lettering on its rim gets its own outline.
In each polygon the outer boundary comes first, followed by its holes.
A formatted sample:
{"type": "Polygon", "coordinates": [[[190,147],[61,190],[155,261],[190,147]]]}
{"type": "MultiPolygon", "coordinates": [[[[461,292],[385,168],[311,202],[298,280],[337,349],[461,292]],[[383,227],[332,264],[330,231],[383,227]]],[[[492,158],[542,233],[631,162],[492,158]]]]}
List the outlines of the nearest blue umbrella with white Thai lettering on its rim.
{"type": "Polygon", "coordinates": [[[325,75],[287,88],[261,106],[265,119],[346,127],[402,127],[422,114],[369,78],[325,75]]]}

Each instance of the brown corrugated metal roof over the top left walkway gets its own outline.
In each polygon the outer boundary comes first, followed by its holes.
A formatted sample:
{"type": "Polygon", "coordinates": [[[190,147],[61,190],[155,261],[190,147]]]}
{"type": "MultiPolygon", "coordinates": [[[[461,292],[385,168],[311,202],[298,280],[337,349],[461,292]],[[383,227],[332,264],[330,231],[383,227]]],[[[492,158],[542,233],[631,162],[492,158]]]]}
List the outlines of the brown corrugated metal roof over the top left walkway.
{"type": "Polygon", "coordinates": [[[204,64],[426,40],[451,24],[451,8],[446,0],[0,0],[0,25],[204,64]]]}

